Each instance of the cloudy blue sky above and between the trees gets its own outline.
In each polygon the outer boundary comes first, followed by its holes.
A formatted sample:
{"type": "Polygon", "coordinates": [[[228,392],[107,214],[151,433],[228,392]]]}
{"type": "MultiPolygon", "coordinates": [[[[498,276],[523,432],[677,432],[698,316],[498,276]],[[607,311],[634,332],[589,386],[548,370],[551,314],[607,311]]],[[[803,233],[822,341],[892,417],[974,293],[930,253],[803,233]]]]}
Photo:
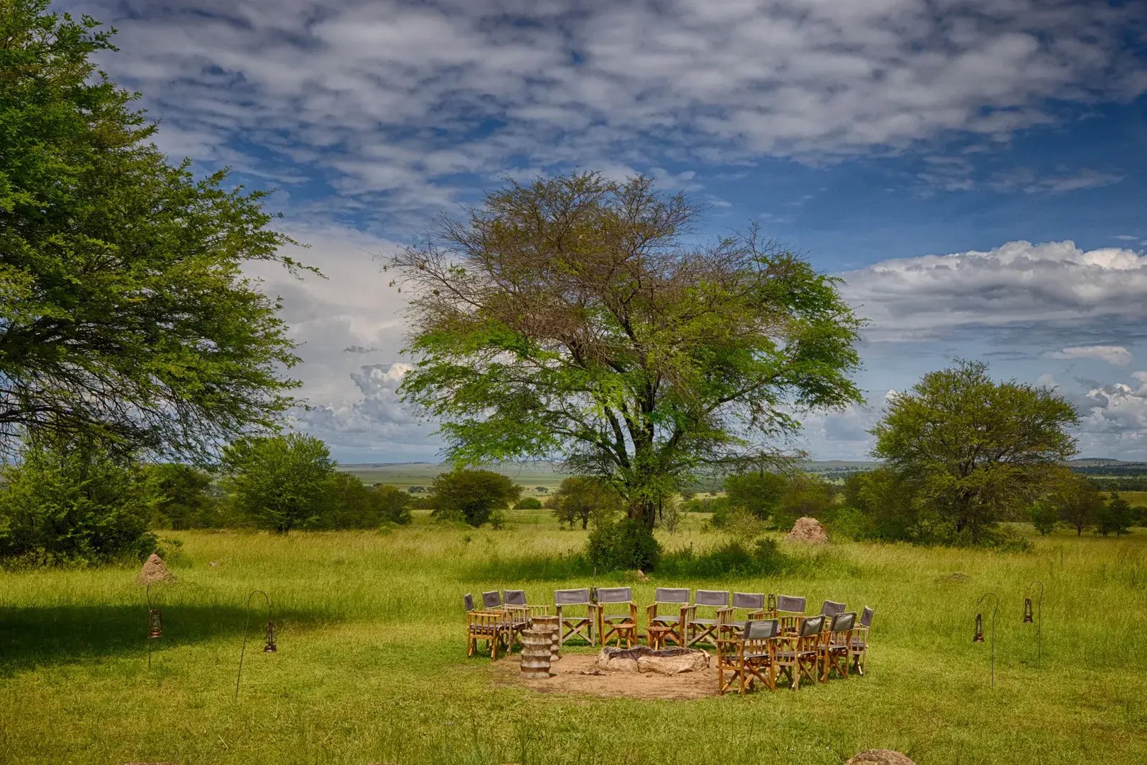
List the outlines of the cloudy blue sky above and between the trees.
{"type": "Polygon", "coordinates": [[[954,357],[1055,387],[1080,452],[1147,460],[1147,8],[1059,0],[68,2],[158,143],[278,187],[327,280],[260,270],[302,343],[298,427],[434,458],[395,395],[375,256],[499,177],[643,172],[841,274],[869,404],[798,445],[864,459],[889,391],[954,357]]]}

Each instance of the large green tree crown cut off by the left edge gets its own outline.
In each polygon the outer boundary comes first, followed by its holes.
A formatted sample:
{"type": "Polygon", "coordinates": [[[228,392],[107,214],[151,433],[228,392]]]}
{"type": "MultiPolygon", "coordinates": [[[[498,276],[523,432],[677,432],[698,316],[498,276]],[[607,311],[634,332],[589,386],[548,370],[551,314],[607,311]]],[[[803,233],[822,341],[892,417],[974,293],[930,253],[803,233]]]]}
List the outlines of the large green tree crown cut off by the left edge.
{"type": "Polygon", "coordinates": [[[291,242],[263,192],[193,177],[48,0],[0,11],[0,450],[38,434],[210,458],[273,427],[297,359],[244,266],[291,242]]]}

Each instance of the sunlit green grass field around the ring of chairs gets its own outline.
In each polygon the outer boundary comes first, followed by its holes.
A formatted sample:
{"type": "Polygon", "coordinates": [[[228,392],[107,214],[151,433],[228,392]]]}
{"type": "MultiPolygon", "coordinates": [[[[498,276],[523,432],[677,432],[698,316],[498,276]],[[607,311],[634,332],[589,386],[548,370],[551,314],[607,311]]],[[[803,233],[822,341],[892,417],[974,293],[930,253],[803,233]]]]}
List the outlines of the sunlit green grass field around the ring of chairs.
{"type": "MultiPolygon", "coordinates": [[[[869,672],[799,692],[697,701],[561,696],[465,656],[461,595],[588,585],[580,531],[515,512],[502,531],[172,532],[179,583],[147,669],[132,569],[0,575],[0,763],[833,763],[871,747],[916,763],[1147,762],[1147,532],[1055,533],[1030,554],[841,544],[768,579],[633,583],[803,594],[876,609],[869,672]],[[211,567],[216,561],[218,565],[211,567]],[[967,580],[953,580],[961,572],[967,580]],[[1047,586],[1043,661],[1024,585],[1047,586]],[[232,701],[243,603],[266,590],[232,701]],[[1000,595],[996,688],[972,642],[1000,595]]],[[[666,546],[708,547],[701,518],[666,546]]],[[[957,578],[958,579],[958,578],[957,578]]],[[[626,581],[599,577],[596,584],[626,581]]],[[[990,615],[989,615],[990,622],[990,615]]],[[[588,650],[588,649],[582,649],[588,650]]],[[[515,662],[516,656],[500,662],[515,662]]]]}

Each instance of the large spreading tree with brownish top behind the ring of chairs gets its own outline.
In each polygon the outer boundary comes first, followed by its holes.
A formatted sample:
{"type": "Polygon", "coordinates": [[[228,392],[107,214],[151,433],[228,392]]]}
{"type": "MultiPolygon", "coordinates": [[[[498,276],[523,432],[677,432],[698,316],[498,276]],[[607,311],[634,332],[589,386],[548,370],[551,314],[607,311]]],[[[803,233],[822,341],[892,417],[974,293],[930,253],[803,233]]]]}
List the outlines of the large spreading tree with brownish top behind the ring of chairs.
{"type": "Polygon", "coordinates": [[[460,462],[560,458],[653,525],[715,465],[768,459],[790,412],[860,400],[837,282],[756,229],[699,243],[649,179],[510,182],[389,268],[413,291],[401,391],[460,462]]]}

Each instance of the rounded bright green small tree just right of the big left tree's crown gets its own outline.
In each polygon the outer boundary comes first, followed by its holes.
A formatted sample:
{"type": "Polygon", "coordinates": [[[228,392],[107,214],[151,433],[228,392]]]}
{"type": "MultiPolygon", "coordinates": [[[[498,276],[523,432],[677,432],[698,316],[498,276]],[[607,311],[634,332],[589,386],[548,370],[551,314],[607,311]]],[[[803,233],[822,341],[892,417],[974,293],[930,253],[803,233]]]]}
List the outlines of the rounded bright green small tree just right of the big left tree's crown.
{"type": "Polygon", "coordinates": [[[223,486],[235,510],[262,529],[286,533],[315,528],[329,509],[335,463],[327,445],[314,436],[236,442],[224,452],[223,470],[223,486]]]}

